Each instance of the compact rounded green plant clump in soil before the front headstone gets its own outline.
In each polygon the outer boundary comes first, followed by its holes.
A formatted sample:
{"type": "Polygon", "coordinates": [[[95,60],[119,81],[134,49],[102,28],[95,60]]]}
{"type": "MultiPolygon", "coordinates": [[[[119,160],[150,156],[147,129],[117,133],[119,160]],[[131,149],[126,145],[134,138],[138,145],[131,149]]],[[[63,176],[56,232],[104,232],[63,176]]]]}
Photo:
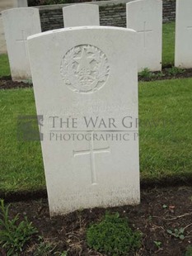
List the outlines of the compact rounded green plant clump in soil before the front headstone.
{"type": "Polygon", "coordinates": [[[100,223],[87,229],[87,245],[91,249],[110,255],[124,255],[141,247],[142,234],[133,231],[126,218],[119,213],[106,213],[100,223]]]}

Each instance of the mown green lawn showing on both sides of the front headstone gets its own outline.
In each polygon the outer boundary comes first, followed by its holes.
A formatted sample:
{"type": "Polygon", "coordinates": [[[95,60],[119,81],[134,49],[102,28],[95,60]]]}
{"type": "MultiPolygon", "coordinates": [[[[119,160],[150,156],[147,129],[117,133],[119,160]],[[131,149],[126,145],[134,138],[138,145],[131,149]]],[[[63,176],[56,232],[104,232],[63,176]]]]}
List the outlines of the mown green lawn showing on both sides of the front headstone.
{"type": "MultiPolygon", "coordinates": [[[[17,116],[35,114],[33,89],[1,90],[0,99],[1,190],[45,188],[40,143],[16,138],[17,116]]],[[[142,179],[192,174],[191,109],[192,78],[139,83],[142,179]]]]}

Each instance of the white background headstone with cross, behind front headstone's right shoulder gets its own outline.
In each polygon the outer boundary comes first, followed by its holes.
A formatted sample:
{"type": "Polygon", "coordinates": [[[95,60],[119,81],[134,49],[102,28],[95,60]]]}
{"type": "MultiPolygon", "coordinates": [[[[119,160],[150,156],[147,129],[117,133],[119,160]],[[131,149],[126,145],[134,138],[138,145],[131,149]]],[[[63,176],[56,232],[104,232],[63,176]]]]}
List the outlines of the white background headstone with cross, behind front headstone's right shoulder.
{"type": "Polygon", "coordinates": [[[162,0],[128,2],[127,27],[138,32],[138,71],[162,70],[162,0]]]}

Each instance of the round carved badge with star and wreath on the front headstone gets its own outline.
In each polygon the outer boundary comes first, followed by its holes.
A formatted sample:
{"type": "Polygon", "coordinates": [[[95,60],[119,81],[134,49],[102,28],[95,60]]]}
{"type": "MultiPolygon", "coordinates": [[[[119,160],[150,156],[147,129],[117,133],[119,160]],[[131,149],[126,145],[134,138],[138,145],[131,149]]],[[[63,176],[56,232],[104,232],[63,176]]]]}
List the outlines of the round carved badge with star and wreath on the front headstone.
{"type": "Polygon", "coordinates": [[[100,90],[110,73],[105,54],[93,45],[77,45],[63,56],[61,74],[73,92],[90,93],[100,90]]]}

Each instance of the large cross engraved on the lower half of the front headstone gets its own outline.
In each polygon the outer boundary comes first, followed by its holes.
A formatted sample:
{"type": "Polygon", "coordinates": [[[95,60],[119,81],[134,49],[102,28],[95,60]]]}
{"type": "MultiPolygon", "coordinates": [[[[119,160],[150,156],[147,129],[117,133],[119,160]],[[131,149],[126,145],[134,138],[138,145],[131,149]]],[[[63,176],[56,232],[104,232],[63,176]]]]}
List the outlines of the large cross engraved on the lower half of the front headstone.
{"type": "Polygon", "coordinates": [[[73,150],[73,156],[76,157],[77,155],[90,155],[91,160],[91,183],[92,185],[96,185],[96,165],[95,165],[95,154],[101,153],[110,153],[110,147],[95,149],[93,144],[93,131],[91,132],[91,140],[90,140],[90,149],[73,150]]]}

